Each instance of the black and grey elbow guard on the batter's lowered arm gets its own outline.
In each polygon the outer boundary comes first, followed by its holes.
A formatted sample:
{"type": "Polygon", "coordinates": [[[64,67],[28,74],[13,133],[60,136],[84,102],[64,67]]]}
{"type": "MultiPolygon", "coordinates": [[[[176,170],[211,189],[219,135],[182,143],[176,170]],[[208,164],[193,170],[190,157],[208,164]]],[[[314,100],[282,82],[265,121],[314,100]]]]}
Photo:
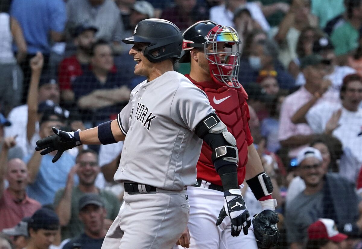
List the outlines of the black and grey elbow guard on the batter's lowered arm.
{"type": "Polygon", "coordinates": [[[236,147],[236,140],[215,113],[205,117],[196,126],[195,134],[212,149],[212,162],[216,171],[225,165],[237,167],[239,151],[236,147]]]}

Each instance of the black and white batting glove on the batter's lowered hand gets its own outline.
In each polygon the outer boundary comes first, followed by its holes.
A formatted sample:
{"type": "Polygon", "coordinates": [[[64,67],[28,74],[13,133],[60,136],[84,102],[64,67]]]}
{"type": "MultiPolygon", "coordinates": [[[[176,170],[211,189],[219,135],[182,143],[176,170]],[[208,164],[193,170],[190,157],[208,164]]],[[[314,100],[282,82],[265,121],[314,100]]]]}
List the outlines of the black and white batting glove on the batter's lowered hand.
{"type": "Polygon", "coordinates": [[[230,217],[231,236],[239,236],[241,228],[245,235],[248,234],[251,219],[240,189],[230,189],[224,192],[224,207],[220,211],[216,225],[220,225],[226,216],[230,217]]]}

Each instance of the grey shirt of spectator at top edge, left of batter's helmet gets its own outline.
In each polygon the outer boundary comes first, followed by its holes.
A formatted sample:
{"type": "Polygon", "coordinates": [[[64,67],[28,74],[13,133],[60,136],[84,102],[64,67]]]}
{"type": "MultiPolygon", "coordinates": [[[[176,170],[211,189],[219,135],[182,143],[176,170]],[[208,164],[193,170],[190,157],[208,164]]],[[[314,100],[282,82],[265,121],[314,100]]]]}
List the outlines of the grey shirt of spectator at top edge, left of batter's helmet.
{"type": "Polygon", "coordinates": [[[67,29],[79,25],[94,26],[98,29],[96,39],[102,39],[118,46],[124,28],[121,13],[113,0],[68,0],[67,29]]]}

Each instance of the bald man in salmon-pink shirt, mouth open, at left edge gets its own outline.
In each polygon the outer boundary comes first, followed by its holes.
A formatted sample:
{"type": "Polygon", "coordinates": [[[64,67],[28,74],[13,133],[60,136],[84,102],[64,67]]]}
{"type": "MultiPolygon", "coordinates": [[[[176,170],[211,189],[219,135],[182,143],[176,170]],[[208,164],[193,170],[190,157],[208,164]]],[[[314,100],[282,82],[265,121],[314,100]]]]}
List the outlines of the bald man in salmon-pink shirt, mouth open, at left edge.
{"type": "Polygon", "coordinates": [[[19,158],[7,163],[7,152],[15,145],[15,138],[5,138],[0,155],[0,231],[18,224],[22,218],[31,216],[41,208],[39,202],[29,198],[25,189],[28,184],[28,169],[19,158]],[[4,189],[5,181],[9,187],[4,189]]]}

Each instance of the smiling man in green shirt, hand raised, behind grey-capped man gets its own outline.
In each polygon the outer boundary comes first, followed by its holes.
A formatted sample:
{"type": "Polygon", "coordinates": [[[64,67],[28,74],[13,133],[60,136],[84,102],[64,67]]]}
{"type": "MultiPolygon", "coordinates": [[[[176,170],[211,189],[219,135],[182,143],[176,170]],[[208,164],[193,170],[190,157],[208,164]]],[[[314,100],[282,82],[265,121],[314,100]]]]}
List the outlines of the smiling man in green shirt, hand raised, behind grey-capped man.
{"type": "Polygon", "coordinates": [[[84,224],[79,219],[79,200],[84,194],[98,194],[107,211],[104,226],[106,229],[117,217],[121,203],[112,192],[101,190],[94,185],[100,167],[98,155],[93,150],[83,150],[76,158],[76,165],[68,175],[65,188],[55,194],[54,206],[62,226],[62,240],[79,236],[84,231],[84,224]],[[79,177],[79,185],[73,186],[75,173],[79,177]]]}

